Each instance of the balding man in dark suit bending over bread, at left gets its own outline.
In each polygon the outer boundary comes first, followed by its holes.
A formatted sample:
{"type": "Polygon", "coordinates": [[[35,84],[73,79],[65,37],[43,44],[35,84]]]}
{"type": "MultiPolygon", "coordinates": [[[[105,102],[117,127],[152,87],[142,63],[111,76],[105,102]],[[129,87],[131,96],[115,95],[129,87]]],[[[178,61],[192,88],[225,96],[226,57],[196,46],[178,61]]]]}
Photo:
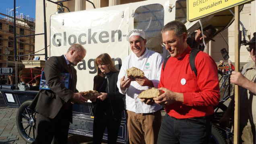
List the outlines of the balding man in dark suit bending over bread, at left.
{"type": "Polygon", "coordinates": [[[73,44],[65,55],[52,56],[44,67],[50,90],[40,90],[31,105],[36,114],[36,144],[67,143],[69,122],[72,123],[72,103],[87,101],[76,89],[74,66],[85,57],[86,49],[73,44]],[[69,73],[69,86],[61,83],[60,73],[69,73]],[[71,103],[72,102],[72,103],[71,103]]]}

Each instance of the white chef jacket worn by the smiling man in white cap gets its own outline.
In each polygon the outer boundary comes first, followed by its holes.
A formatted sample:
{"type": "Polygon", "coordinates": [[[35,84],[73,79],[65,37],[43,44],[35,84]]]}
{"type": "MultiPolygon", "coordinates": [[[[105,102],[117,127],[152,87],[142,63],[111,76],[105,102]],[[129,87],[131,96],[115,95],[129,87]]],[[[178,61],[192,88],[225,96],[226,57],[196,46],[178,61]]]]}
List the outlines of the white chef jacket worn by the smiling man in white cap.
{"type": "MultiPolygon", "coordinates": [[[[141,57],[137,57],[134,53],[127,56],[122,62],[122,67],[118,75],[117,86],[119,92],[124,94],[120,88],[121,78],[126,76],[126,70],[131,67],[136,67],[142,70],[145,76],[151,80],[155,88],[158,88],[161,66],[163,63],[162,56],[146,48],[145,53],[141,57]]],[[[162,108],[161,105],[154,103],[153,105],[147,105],[141,102],[138,98],[143,90],[149,89],[149,86],[140,86],[136,81],[132,81],[130,87],[126,90],[126,109],[135,113],[153,113],[162,108]]]]}

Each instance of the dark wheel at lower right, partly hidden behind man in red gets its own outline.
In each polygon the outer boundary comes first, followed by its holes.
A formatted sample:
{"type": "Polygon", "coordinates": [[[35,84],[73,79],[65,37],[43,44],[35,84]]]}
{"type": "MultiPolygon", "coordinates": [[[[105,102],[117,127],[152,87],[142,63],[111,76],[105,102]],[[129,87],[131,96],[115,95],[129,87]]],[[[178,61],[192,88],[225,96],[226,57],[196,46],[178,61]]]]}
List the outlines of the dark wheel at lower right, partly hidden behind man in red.
{"type": "Polygon", "coordinates": [[[209,144],[227,144],[222,131],[219,130],[215,125],[212,125],[212,134],[209,144]]]}

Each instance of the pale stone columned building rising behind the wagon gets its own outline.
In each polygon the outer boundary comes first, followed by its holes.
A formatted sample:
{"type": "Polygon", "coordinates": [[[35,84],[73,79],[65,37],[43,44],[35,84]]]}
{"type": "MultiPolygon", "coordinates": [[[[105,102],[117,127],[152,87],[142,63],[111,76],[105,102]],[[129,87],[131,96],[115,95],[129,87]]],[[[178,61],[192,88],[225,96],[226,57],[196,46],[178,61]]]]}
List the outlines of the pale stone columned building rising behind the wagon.
{"type": "MultiPolygon", "coordinates": [[[[56,1],[56,0],[55,0],[56,1]]],[[[127,4],[130,2],[140,2],[143,0],[91,0],[94,3],[96,8],[106,7],[106,6],[114,6],[119,4],[127,4]]],[[[156,1],[157,2],[157,1],[156,1]]],[[[63,3],[64,6],[67,6],[71,12],[79,11],[79,10],[89,10],[93,9],[93,5],[89,2],[85,2],[85,0],[71,0],[63,3]]],[[[57,11],[58,6],[51,2],[46,2],[46,22],[47,22],[47,45],[49,45],[50,39],[50,15],[54,14],[57,11]]],[[[246,40],[249,41],[252,38],[252,34],[256,31],[256,15],[255,15],[256,2],[253,1],[248,4],[244,4],[243,10],[240,12],[240,21],[244,24],[244,27],[247,30],[246,40]]],[[[41,0],[36,0],[36,20],[40,21],[40,24],[43,24],[43,3],[41,0]]],[[[68,10],[65,8],[65,12],[68,10]]],[[[43,25],[36,25],[36,33],[43,33],[43,25]]],[[[240,26],[240,30],[242,27],[240,26]]],[[[213,57],[215,62],[219,62],[219,60],[223,60],[221,55],[221,49],[226,48],[229,52],[229,60],[233,61],[234,64],[234,40],[235,40],[235,28],[234,24],[231,24],[227,29],[221,32],[227,43],[223,40],[221,34],[215,36],[215,42],[210,41],[207,43],[208,49],[205,50],[206,53],[209,53],[210,56],[213,57]]],[[[243,39],[243,37],[242,37],[243,39]]],[[[43,36],[35,37],[35,47],[37,49],[41,49],[44,45],[43,36]]],[[[49,53],[49,49],[48,49],[49,53]]],[[[41,59],[43,60],[43,59],[41,59]]],[[[246,51],[246,46],[241,46],[240,50],[240,62],[246,63],[250,61],[250,54],[246,51]]],[[[228,60],[224,61],[227,63],[228,60]]]]}

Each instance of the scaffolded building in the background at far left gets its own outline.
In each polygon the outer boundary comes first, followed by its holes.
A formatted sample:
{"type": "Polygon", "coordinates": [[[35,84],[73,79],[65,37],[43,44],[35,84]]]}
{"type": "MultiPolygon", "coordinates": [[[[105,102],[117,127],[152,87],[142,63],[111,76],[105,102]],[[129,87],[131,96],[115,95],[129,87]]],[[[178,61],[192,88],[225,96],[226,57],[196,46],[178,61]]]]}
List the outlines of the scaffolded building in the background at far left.
{"type": "MultiPolygon", "coordinates": [[[[35,34],[35,23],[26,21],[17,16],[16,36],[35,34]],[[19,21],[21,20],[21,21],[19,21]]],[[[35,51],[35,36],[17,38],[17,55],[27,55],[35,51]]],[[[31,57],[33,59],[33,57],[31,57]]],[[[22,66],[21,60],[27,60],[28,56],[17,57],[18,64],[22,66]]],[[[0,67],[14,66],[14,25],[13,19],[0,17],[0,67]]]]}

